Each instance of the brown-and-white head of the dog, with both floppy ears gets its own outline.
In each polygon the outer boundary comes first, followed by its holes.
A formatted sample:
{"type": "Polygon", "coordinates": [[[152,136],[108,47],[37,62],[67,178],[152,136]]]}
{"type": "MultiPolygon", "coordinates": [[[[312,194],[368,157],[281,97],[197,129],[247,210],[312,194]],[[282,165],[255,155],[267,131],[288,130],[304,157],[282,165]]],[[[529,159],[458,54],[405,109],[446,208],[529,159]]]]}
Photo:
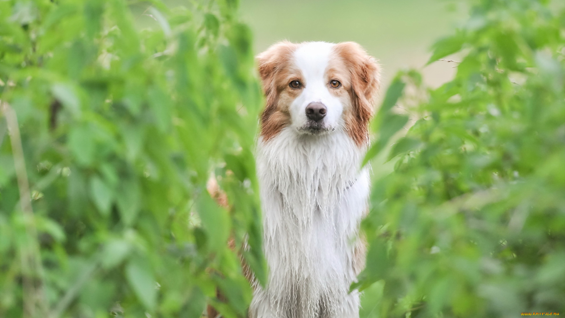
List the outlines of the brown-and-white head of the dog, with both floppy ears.
{"type": "Polygon", "coordinates": [[[362,145],[379,88],[379,65],[354,42],[279,42],[257,56],[267,105],[263,140],[285,127],[297,134],[344,130],[362,145]]]}

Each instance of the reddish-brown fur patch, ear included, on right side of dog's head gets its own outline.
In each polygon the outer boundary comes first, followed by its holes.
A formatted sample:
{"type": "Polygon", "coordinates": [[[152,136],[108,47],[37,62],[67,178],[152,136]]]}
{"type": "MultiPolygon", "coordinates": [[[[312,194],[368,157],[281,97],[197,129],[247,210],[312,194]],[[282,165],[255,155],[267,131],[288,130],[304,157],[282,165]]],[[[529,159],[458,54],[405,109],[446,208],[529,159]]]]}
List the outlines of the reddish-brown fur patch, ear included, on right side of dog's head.
{"type": "Polygon", "coordinates": [[[350,72],[351,83],[347,87],[351,110],[345,114],[347,133],[358,146],[362,146],[369,140],[368,123],[373,115],[373,101],[379,90],[380,67],[376,59],[355,42],[336,44],[333,50],[350,72]]]}

